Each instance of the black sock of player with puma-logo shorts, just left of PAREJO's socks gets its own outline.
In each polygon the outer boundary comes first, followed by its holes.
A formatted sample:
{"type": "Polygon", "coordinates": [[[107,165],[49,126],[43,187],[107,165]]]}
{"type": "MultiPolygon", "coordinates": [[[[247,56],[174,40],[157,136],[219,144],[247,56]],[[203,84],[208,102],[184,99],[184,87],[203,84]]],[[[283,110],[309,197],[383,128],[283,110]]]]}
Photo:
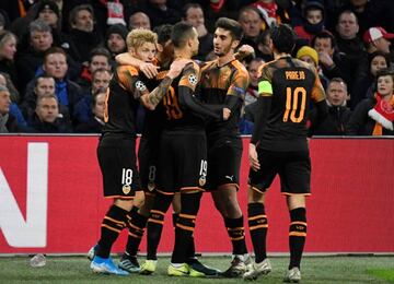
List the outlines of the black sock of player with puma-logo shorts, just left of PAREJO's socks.
{"type": "Polygon", "coordinates": [[[229,237],[233,247],[233,255],[247,253],[245,242],[245,228],[243,225],[243,216],[239,218],[224,218],[229,237]]]}

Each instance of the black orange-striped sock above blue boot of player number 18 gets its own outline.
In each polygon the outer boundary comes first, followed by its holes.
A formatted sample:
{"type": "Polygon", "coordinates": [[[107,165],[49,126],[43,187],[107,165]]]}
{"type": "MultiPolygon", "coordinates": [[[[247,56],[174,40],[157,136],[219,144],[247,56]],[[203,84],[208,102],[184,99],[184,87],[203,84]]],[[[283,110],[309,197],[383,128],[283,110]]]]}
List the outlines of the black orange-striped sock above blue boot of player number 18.
{"type": "Polygon", "coordinates": [[[99,249],[96,255],[101,258],[108,258],[111,248],[119,233],[124,227],[126,227],[127,222],[127,211],[112,205],[108,212],[105,214],[102,227],[101,227],[101,238],[99,240],[99,249]]]}

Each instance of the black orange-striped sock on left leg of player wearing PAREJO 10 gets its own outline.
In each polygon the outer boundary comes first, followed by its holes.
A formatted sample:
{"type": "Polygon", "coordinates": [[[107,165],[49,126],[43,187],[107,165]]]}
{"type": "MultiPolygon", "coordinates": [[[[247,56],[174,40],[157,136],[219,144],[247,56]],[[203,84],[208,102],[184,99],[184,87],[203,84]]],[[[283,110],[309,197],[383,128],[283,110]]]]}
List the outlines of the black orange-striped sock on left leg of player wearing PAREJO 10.
{"type": "Polygon", "coordinates": [[[256,263],[259,263],[267,258],[266,240],[268,221],[263,203],[247,204],[247,221],[252,244],[256,256],[255,261],[256,263]]]}

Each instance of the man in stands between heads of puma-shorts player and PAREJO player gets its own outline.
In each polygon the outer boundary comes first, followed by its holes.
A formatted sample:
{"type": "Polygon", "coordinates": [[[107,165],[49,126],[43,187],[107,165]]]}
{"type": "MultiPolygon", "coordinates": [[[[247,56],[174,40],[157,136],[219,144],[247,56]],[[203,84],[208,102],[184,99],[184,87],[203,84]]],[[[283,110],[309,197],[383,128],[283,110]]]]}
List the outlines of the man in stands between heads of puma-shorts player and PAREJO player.
{"type": "Polygon", "coordinates": [[[237,21],[244,31],[240,46],[250,45],[255,50],[258,50],[258,39],[264,23],[258,10],[251,5],[242,8],[237,21]]]}

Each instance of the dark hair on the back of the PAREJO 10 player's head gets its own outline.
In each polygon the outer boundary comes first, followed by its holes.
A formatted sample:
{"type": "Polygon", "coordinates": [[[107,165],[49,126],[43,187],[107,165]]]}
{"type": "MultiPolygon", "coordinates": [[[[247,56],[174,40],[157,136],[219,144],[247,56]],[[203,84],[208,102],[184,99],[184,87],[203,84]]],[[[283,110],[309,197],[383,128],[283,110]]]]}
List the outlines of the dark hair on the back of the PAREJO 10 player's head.
{"type": "Polygon", "coordinates": [[[291,54],[296,46],[296,34],[291,26],[287,24],[273,25],[269,33],[278,52],[291,54]]]}

